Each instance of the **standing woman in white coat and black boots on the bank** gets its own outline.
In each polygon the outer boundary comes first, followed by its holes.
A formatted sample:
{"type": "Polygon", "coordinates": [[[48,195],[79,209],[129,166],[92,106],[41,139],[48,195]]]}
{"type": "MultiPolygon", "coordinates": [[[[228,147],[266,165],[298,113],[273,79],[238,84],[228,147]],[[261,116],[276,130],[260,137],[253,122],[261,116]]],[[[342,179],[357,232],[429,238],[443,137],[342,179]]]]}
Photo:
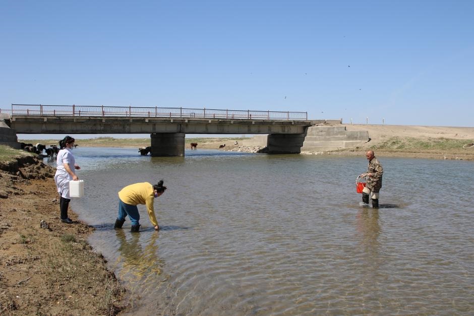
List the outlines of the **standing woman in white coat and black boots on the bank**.
{"type": "Polygon", "coordinates": [[[73,221],[68,217],[69,202],[69,181],[79,180],[75,170],[81,169],[76,164],[76,159],[72,153],[75,139],[66,136],[60,141],[60,151],[57,153],[56,160],[56,174],[54,175],[54,182],[56,182],[57,192],[60,194],[60,209],[61,221],[71,224],[73,221]]]}

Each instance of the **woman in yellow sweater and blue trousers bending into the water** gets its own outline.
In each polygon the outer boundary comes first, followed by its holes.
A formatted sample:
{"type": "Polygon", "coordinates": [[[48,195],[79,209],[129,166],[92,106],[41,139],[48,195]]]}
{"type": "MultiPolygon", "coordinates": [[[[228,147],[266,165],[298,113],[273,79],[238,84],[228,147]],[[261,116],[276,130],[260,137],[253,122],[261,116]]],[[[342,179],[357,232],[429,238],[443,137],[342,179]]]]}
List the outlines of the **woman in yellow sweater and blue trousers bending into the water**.
{"type": "Polygon", "coordinates": [[[113,228],[122,228],[125,217],[130,217],[132,222],[132,232],[138,232],[140,229],[140,214],[138,213],[138,204],[146,205],[150,222],[155,226],[155,230],[159,230],[158,222],[156,221],[155,211],[153,209],[153,201],[158,198],[165,191],[166,186],[163,186],[163,180],[157,184],[150,184],[148,182],[140,182],[127,185],[120,192],[118,192],[118,216],[115,220],[113,228]]]}

